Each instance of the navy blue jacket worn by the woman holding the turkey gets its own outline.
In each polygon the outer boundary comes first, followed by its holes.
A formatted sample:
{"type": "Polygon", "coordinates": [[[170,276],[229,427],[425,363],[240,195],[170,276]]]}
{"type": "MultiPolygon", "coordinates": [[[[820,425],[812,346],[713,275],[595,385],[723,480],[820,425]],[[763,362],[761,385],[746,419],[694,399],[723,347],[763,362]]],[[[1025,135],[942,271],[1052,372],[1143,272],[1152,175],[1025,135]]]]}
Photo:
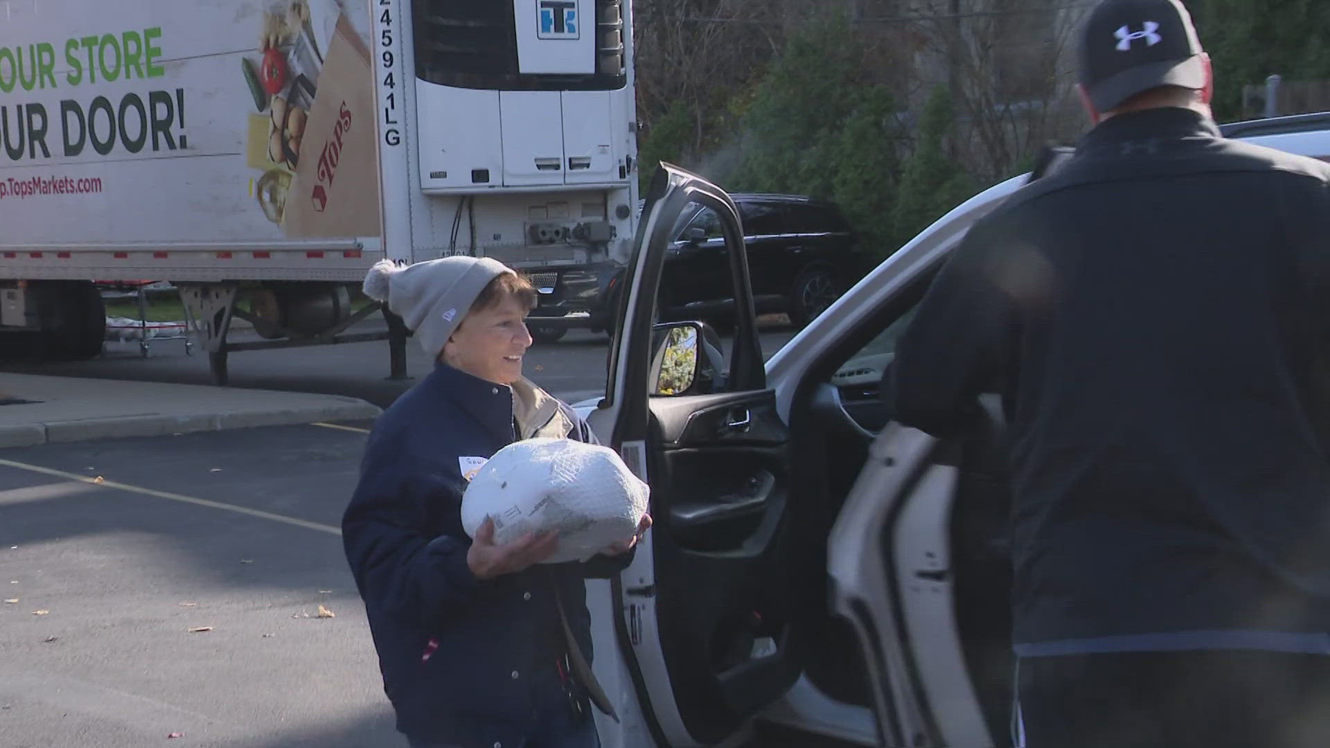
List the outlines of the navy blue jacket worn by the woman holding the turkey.
{"type": "MultiPolygon", "coordinates": [[[[567,406],[560,414],[568,438],[595,442],[567,406]]],[[[557,680],[535,676],[564,651],[555,586],[591,659],[583,582],[632,560],[537,564],[485,582],[471,574],[460,458],[488,459],[516,438],[508,387],[439,365],[379,418],[342,519],[384,692],[398,729],[416,740],[489,748],[539,731],[533,684],[557,680]]]]}

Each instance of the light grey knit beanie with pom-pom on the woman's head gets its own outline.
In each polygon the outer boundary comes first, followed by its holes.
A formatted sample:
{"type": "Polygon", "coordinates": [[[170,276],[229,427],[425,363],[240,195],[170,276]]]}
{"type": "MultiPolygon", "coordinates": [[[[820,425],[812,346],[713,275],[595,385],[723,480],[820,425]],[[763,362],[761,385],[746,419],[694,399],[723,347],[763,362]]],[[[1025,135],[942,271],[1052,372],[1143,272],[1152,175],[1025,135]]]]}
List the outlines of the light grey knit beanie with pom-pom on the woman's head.
{"type": "Polygon", "coordinates": [[[382,301],[415,331],[420,347],[439,355],[489,281],[511,268],[489,257],[452,256],[415,265],[380,260],[364,277],[364,295],[382,301]]]}

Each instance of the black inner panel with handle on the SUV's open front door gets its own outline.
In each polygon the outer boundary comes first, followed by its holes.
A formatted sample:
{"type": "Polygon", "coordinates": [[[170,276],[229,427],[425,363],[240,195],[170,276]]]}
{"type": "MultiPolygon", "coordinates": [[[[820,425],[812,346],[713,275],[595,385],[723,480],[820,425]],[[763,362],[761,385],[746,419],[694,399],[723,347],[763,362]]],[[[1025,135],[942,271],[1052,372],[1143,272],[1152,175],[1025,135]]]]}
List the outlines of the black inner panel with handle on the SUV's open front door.
{"type": "Polygon", "coordinates": [[[783,647],[785,595],[773,584],[789,504],[787,435],[769,391],[657,403],[660,441],[648,451],[657,610],[669,611],[657,614],[661,648],[685,724],[713,743],[798,672],[783,647]],[[751,437],[730,426],[737,413],[761,425],[751,437]]]}

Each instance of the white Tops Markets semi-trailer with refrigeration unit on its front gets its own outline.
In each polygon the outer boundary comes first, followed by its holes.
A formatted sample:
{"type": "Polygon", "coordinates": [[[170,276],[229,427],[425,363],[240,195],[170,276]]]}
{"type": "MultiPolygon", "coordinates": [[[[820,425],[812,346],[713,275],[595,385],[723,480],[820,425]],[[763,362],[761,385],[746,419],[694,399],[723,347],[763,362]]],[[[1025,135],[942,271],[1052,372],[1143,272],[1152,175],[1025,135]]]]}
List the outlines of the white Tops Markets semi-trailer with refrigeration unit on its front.
{"type": "Polygon", "coordinates": [[[219,381],[229,351],[390,337],[402,375],[394,315],[347,333],[375,261],[495,257],[561,329],[588,322],[557,281],[626,260],[628,0],[7,7],[0,330],[29,353],[96,355],[93,282],[152,280],[219,381]]]}

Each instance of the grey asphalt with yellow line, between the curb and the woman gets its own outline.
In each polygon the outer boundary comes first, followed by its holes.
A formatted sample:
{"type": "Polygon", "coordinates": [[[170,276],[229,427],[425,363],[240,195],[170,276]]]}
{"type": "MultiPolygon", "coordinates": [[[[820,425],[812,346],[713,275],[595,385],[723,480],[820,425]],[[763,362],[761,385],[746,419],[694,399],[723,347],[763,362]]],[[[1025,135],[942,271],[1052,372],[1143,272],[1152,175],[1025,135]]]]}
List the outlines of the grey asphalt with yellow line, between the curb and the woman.
{"type": "Polygon", "coordinates": [[[0,743],[402,744],[338,534],[363,442],[0,450],[0,743]]]}

